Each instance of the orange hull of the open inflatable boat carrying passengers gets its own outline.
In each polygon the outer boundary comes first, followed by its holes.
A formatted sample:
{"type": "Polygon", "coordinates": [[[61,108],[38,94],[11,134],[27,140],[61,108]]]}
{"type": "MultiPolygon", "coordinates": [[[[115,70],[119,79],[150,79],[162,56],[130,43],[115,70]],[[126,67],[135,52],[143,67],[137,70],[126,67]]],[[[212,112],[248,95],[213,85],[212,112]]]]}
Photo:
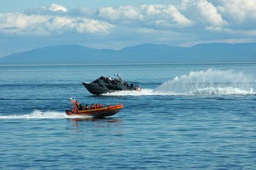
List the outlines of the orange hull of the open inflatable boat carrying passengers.
{"type": "Polygon", "coordinates": [[[113,116],[117,112],[120,111],[120,109],[123,109],[122,104],[118,105],[111,105],[108,107],[102,107],[99,109],[90,109],[90,110],[84,110],[84,111],[77,111],[72,112],[70,110],[66,110],[66,114],[70,116],[92,116],[93,118],[102,118],[106,116],[113,116]]]}

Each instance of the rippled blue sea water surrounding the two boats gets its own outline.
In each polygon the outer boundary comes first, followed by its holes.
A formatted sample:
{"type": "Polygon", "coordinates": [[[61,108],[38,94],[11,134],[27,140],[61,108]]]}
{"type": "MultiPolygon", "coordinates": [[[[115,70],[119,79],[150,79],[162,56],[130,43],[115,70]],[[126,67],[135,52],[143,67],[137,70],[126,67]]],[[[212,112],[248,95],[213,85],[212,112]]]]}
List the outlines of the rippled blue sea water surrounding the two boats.
{"type": "Polygon", "coordinates": [[[0,66],[0,169],[256,169],[256,64],[0,66]],[[95,96],[122,73],[143,90],[95,96]],[[124,104],[65,116],[68,98],[124,104]]]}

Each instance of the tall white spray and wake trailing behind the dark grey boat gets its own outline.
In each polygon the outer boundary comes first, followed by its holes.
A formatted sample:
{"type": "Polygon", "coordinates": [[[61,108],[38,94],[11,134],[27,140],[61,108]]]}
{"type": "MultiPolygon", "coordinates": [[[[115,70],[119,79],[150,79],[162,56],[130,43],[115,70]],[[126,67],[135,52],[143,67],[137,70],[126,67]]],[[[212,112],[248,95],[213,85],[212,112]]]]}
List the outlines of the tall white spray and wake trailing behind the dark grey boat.
{"type": "Polygon", "coordinates": [[[118,91],[104,95],[256,95],[253,82],[243,72],[208,69],[177,76],[155,89],[142,89],[140,92],[118,91]]]}

